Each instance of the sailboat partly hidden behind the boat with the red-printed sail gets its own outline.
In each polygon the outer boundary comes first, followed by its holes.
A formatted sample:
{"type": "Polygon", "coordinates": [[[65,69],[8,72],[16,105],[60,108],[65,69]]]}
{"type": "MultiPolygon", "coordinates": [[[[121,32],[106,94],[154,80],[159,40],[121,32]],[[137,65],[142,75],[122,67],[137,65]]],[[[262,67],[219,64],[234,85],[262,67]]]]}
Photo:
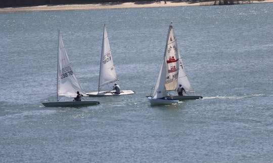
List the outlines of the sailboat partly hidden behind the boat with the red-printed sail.
{"type": "MultiPolygon", "coordinates": [[[[194,92],[192,89],[192,86],[190,84],[190,81],[188,79],[188,76],[186,74],[186,71],[184,69],[183,61],[181,58],[181,55],[178,50],[178,63],[179,63],[179,72],[178,72],[178,79],[177,79],[177,88],[179,85],[182,85],[182,87],[185,89],[186,92],[194,92]]],[[[184,95],[184,96],[174,96],[174,95],[168,95],[168,98],[172,98],[174,100],[196,100],[196,99],[202,99],[202,96],[199,95],[184,95]]]]}

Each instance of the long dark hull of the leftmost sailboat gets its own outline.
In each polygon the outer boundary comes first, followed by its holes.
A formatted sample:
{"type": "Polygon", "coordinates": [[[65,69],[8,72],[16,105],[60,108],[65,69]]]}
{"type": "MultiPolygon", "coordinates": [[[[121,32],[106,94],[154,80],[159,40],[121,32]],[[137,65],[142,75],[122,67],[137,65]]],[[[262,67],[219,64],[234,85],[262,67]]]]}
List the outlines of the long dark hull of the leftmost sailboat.
{"type": "Polygon", "coordinates": [[[77,107],[77,106],[89,106],[98,105],[98,101],[63,101],[63,102],[49,102],[42,103],[45,107],[77,107]]]}

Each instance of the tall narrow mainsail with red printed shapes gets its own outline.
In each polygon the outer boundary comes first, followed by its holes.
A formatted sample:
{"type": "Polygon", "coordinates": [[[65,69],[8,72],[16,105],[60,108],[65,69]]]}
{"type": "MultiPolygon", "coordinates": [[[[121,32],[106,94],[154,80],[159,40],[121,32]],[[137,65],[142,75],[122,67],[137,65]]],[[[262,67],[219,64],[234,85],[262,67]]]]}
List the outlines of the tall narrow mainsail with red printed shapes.
{"type": "Polygon", "coordinates": [[[167,37],[167,44],[165,49],[166,60],[166,91],[174,91],[177,87],[178,78],[178,48],[176,43],[176,37],[172,26],[169,27],[169,33],[167,37]]]}

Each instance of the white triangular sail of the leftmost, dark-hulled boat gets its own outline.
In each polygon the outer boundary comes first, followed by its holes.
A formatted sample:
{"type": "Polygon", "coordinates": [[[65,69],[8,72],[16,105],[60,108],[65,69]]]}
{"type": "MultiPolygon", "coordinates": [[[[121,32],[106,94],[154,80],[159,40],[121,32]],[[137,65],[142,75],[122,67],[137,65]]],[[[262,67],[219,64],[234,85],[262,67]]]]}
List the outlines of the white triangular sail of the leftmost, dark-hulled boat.
{"type": "Polygon", "coordinates": [[[57,69],[57,95],[58,96],[76,96],[77,91],[85,94],[81,85],[75,76],[72,66],[69,62],[63,39],[59,31],[58,47],[58,69],[57,69]]]}

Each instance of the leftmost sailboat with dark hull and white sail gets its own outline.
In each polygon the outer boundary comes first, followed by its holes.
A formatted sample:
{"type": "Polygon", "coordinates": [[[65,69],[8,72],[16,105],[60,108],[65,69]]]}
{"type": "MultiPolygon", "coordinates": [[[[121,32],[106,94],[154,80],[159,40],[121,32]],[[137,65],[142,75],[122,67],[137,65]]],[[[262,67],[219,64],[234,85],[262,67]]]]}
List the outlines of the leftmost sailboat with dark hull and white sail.
{"type": "Polygon", "coordinates": [[[80,94],[85,93],[72,70],[60,31],[57,64],[57,102],[42,103],[42,105],[45,107],[75,107],[100,104],[98,101],[59,101],[59,96],[76,96],[77,91],[80,94]]]}

